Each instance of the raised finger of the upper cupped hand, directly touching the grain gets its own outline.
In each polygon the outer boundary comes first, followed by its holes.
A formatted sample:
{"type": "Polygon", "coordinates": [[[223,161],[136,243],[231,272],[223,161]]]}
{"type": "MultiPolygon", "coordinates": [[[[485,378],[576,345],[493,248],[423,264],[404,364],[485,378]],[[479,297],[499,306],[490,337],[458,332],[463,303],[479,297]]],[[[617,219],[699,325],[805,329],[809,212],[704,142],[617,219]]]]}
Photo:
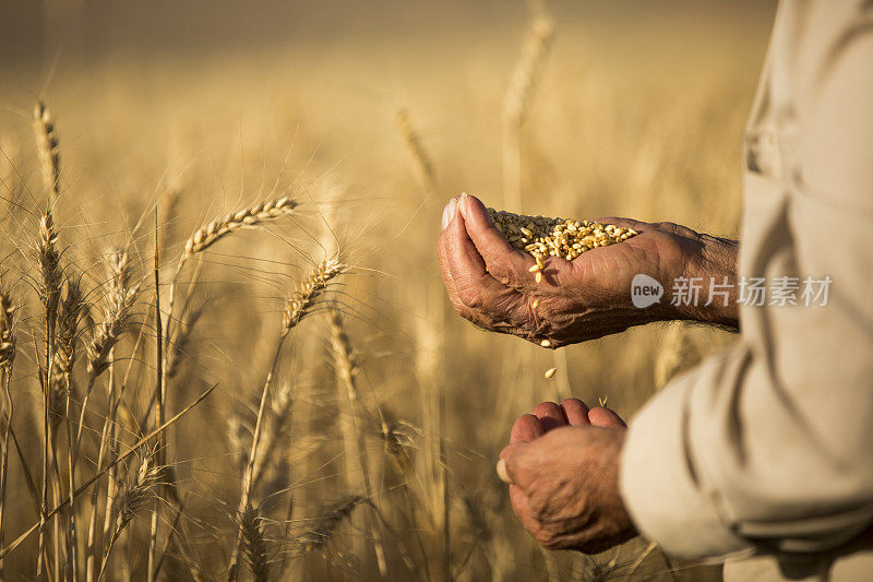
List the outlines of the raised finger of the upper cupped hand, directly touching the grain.
{"type": "Polygon", "coordinates": [[[536,264],[534,258],[510,245],[506,237],[493,225],[485,204],[478,198],[462,194],[458,206],[467,234],[485,260],[488,272],[503,285],[514,288],[531,287],[535,280],[529,270],[536,264]]]}

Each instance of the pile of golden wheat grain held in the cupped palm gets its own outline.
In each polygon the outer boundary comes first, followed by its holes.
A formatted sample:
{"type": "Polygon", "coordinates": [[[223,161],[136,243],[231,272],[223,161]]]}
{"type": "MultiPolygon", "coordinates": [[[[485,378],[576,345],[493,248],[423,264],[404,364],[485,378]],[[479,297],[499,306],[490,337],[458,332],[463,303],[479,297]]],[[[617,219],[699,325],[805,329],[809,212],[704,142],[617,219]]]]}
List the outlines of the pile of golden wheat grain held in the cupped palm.
{"type": "Polygon", "coordinates": [[[537,283],[542,275],[545,257],[561,257],[572,261],[583,252],[626,240],[637,233],[613,224],[589,221],[565,221],[547,216],[527,216],[488,209],[488,214],[510,245],[529,252],[537,261],[530,268],[537,283]]]}

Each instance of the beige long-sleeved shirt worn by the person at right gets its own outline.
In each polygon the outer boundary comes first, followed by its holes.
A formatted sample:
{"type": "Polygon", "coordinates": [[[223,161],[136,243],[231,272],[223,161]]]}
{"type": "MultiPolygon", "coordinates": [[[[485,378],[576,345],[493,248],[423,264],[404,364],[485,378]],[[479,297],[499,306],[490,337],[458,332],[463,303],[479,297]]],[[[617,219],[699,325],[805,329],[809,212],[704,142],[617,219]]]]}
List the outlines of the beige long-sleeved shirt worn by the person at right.
{"type": "Polygon", "coordinates": [[[766,278],[765,305],[633,419],[622,492],[669,553],[873,580],[872,1],[780,3],[744,164],[739,275],[766,278]],[[830,278],[825,306],[806,277],[830,278]]]}

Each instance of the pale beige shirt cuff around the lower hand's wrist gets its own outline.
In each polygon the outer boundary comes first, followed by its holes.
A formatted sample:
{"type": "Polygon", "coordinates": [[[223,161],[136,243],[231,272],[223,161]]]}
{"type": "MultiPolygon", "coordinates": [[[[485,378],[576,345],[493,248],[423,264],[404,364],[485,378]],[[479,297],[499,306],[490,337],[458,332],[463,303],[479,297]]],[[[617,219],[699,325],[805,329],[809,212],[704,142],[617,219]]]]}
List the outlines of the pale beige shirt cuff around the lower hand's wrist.
{"type": "MultiPolygon", "coordinates": [[[[696,370],[699,372],[699,369],[696,370]]],[[[703,558],[748,549],[697,483],[685,440],[695,373],[654,396],[631,423],[620,487],[637,531],[668,554],[703,558]]]]}

